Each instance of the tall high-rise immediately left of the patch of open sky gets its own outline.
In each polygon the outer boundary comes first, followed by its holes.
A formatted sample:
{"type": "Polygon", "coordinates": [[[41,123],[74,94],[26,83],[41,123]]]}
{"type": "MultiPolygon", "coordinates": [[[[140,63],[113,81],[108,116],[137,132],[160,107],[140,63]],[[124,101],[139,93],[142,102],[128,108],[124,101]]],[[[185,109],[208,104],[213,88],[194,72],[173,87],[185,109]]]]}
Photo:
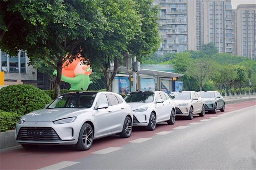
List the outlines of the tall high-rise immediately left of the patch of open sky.
{"type": "Polygon", "coordinates": [[[203,0],[203,44],[213,42],[218,52],[233,53],[231,0],[203,0]]]}

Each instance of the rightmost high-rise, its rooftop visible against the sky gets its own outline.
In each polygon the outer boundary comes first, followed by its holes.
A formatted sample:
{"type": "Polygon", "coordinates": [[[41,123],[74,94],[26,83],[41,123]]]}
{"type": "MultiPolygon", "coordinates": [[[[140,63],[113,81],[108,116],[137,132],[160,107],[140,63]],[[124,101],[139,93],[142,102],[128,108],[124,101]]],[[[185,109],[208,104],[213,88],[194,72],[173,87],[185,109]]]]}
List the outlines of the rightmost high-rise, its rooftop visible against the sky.
{"type": "Polygon", "coordinates": [[[256,59],[256,4],[238,5],[232,10],[234,52],[256,59]]]}

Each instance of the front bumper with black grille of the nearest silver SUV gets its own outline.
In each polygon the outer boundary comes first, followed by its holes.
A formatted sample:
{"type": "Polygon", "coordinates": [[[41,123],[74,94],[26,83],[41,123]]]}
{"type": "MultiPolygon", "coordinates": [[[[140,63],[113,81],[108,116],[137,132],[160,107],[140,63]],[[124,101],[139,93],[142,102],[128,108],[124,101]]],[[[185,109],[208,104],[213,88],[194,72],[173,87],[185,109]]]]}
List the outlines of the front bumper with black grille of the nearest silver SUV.
{"type": "Polygon", "coordinates": [[[80,127],[77,123],[24,122],[16,124],[16,141],[21,144],[76,144],[80,127]],[[37,136],[31,132],[39,132],[37,136]]]}

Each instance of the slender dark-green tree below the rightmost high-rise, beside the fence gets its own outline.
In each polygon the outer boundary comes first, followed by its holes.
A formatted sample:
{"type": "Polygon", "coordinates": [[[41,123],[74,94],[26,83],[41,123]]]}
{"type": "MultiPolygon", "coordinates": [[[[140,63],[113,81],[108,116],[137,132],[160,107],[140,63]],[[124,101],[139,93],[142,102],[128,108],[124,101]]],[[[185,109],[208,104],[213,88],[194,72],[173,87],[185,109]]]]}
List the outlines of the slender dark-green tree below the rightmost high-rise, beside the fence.
{"type": "Polygon", "coordinates": [[[234,65],[233,67],[235,69],[235,72],[237,73],[237,76],[234,79],[235,96],[237,98],[237,85],[238,85],[239,91],[240,91],[239,94],[240,94],[240,98],[241,98],[241,86],[247,78],[247,73],[246,73],[245,67],[243,67],[243,66],[234,65]]]}

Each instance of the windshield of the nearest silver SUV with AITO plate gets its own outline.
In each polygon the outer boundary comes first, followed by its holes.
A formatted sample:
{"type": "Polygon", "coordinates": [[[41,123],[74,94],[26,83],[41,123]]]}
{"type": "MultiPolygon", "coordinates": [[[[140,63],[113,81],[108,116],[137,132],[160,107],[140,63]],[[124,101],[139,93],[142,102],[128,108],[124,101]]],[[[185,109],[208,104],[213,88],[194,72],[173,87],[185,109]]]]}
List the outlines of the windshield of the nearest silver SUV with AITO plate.
{"type": "Polygon", "coordinates": [[[59,96],[47,108],[90,108],[95,94],[72,93],[59,96]]]}

